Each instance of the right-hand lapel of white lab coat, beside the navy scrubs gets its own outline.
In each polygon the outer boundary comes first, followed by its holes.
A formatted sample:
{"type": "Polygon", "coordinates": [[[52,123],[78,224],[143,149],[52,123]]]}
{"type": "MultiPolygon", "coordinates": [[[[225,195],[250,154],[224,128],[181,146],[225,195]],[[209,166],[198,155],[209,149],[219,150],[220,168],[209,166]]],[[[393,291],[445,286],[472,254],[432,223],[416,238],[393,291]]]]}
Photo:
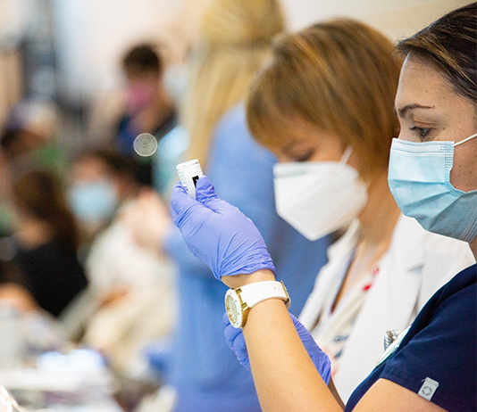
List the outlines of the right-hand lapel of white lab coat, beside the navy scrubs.
{"type": "Polygon", "coordinates": [[[385,332],[389,329],[403,331],[414,315],[422,284],[424,253],[420,243],[423,235],[414,219],[404,216],[398,219],[389,251],[381,259],[380,273],[356,317],[353,334],[340,362],[342,367],[333,377],[344,401],[356,387],[349,383],[347,376],[354,376],[356,384],[361,382],[384,350],[385,332]],[[361,349],[370,346],[372,350],[366,352],[376,354],[377,358],[364,356],[361,349]]]}

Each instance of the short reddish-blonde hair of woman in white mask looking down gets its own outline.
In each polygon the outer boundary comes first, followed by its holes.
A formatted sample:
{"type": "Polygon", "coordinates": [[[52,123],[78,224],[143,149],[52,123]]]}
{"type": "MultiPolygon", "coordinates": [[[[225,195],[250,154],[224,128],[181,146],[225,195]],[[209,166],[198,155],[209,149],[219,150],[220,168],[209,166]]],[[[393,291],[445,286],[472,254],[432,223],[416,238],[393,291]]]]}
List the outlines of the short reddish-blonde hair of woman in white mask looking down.
{"type": "Polygon", "coordinates": [[[350,19],[280,37],[249,92],[248,127],[273,148],[287,138],[294,119],[305,120],[351,145],[362,176],[386,169],[398,133],[393,51],[387,37],[350,19]]]}

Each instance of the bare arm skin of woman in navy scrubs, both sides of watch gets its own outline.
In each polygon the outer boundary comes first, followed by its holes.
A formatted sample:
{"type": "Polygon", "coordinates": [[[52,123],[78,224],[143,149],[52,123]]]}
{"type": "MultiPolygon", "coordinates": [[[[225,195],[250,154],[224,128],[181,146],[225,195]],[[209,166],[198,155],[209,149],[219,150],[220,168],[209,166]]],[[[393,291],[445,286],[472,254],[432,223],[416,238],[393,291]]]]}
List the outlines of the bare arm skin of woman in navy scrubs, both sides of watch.
{"type": "MultiPolygon", "coordinates": [[[[257,271],[251,276],[223,276],[231,287],[271,280],[272,273],[257,271]]],[[[322,381],[300,341],[289,313],[278,299],[263,301],[250,309],[243,328],[255,387],[264,412],[342,411],[322,381]]],[[[438,412],[444,409],[413,391],[380,379],[364,395],[357,412],[438,412]]]]}

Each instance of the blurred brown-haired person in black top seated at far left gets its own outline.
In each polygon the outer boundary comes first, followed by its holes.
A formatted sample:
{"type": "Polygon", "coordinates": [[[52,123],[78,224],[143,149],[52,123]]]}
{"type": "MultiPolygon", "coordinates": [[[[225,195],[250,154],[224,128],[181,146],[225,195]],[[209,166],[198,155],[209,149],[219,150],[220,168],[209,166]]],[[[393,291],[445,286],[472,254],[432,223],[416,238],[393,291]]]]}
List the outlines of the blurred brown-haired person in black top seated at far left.
{"type": "Polygon", "coordinates": [[[88,283],[63,187],[50,172],[30,170],[13,178],[11,196],[13,262],[24,275],[22,285],[40,308],[59,317],[88,283]]]}

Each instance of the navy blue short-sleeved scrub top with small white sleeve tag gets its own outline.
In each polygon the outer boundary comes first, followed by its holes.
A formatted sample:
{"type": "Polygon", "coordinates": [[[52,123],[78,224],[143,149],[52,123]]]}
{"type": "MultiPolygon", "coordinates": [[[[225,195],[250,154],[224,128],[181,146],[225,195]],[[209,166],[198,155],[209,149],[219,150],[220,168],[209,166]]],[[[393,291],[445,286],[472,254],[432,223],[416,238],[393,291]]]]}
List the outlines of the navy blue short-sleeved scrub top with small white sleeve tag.
{"type": "Polygon", "coordinates": [[[431,297],[398,349],[356,388],[345,411],[381,378],[449,411],[477,410],[476,277],[473,265],[431,297]]]}

